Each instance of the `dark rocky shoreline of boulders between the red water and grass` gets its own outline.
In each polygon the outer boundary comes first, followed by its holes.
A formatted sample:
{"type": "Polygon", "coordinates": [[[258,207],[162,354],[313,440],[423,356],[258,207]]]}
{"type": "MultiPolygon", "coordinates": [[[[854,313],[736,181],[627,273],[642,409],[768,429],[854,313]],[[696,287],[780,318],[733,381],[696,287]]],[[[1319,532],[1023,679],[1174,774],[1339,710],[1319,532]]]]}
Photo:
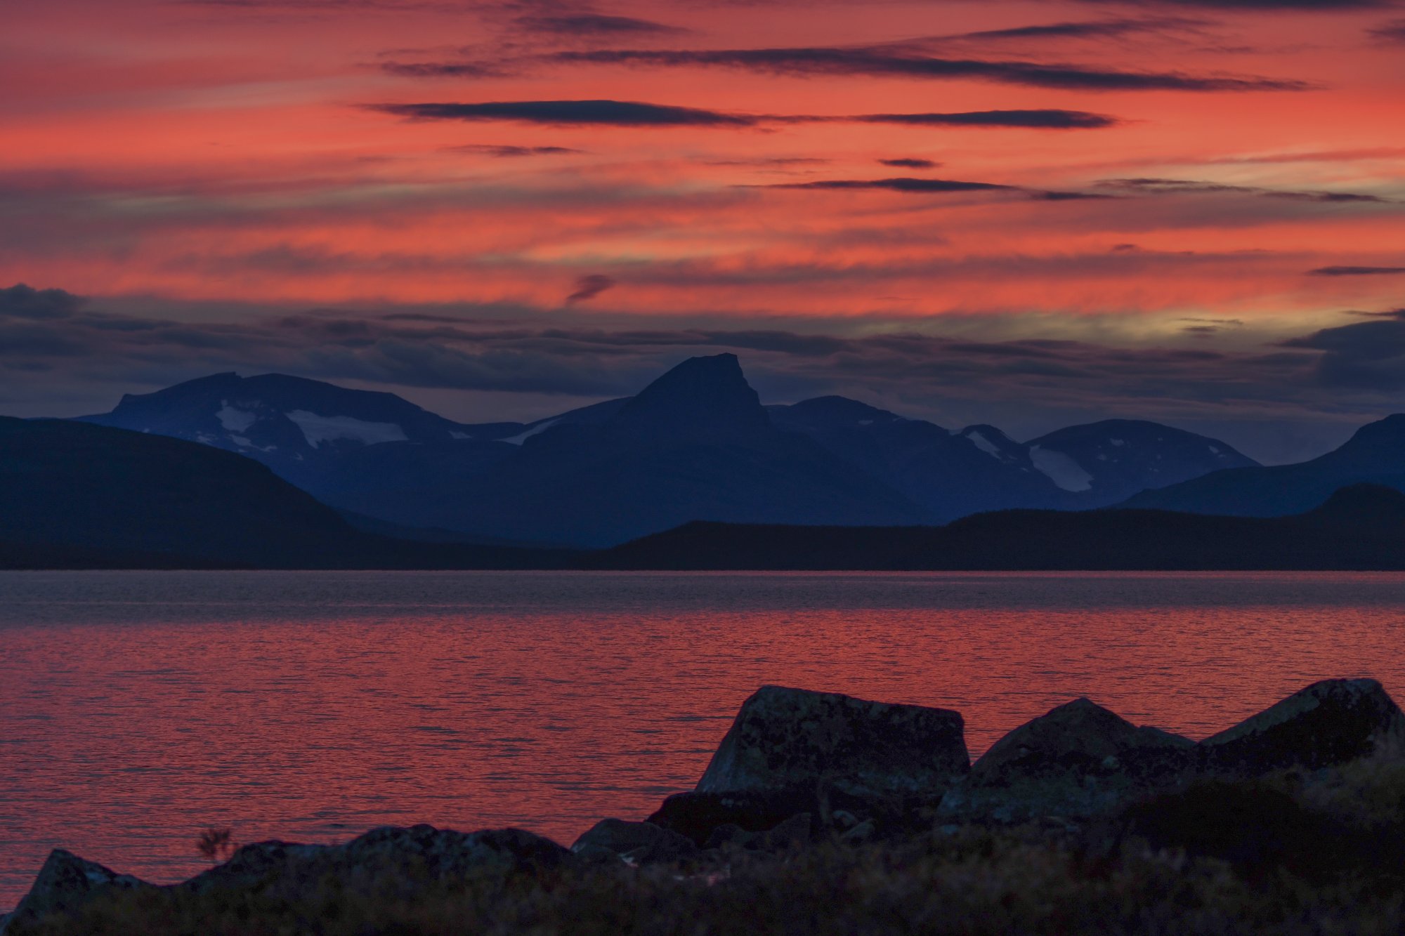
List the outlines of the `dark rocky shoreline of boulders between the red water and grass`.
{"type": "MultiPolygon", "coordinates": [[[[1054,842],[1085,863],[1137,842],[1146,853],[1277,862],[1309,876],[1357,859],[1394,862],[1399,873],[1397,826],[1329,821],[1284,793],[1335,783],[1361,763],[1405,765],[1405,714],[1370,679],[1314,683],[1201,742],[1078,698],[1016,728],[974,765],[960,713],[766,686],[742,706],[694,791],[669,797],[642,822],[603,819],[569,849],[521,829],[379,828],[336,846],[246,845],[173,885],[59,849],[0,918],[0,933],[124,932],[111,919],[111,929],[93,922],[122,899],[148,911],[254,897],[294,905],[329,881],[375,892],[386,881],[452,888],[485,874],[666,867],[672,880],[711,884],[746,862],[991,831],[1054,842]]],[[[1405,812],[1405,798],[1388,808],[1405,812]]]]}

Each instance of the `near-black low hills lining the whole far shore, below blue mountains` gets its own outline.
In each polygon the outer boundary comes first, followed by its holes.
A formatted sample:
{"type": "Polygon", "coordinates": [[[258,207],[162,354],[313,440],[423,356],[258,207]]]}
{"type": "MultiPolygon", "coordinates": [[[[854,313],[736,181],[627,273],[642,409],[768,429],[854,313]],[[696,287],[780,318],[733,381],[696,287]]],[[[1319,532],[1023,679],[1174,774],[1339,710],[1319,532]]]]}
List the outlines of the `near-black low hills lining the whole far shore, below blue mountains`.
{"type": "Polygon", "coordinates": [[[368,533],[266,465],[200,443],[0,417],[0,568],[1405,569],[1405,495],[1356,485],[1291,517],[1116,507],[946,526],[693,521],[604,550],[531,550],[368,533]]]}

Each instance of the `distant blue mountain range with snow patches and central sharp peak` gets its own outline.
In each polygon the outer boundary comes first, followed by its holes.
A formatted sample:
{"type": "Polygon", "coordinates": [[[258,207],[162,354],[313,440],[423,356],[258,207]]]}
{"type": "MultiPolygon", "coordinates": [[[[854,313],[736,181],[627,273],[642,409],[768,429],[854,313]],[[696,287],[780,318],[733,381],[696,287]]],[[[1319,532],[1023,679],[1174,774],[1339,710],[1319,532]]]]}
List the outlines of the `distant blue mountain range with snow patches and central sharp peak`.
{"type": "Polygon", "coordinates": [[[951,430],[840,396],[763,406],[732,354],[534,423],[455,423],[391,394],[278,374],[128,395],[81,422],[263,462],[364,531],[481,544],[600,548],[694,520],[940,524],[1104,507],[1262,469],[1220,440],[1149,422],[1019,443],[993,426],[951,430]]]}

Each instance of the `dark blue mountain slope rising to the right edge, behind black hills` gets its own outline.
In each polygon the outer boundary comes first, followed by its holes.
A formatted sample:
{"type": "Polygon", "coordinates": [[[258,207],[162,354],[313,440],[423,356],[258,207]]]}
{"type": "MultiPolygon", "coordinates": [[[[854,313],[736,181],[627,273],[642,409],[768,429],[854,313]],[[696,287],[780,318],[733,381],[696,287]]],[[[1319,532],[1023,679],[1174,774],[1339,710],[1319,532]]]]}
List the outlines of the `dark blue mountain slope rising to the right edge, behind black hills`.
{"type": "Polygon", "coordinates": [[[1127,500],[1127,507],[1241,517],[1302,513],[1356,483],[1405,490],[1405,415],[1363,426],[1340,448],[1295,465],[1217,471],[1127,500]]]}

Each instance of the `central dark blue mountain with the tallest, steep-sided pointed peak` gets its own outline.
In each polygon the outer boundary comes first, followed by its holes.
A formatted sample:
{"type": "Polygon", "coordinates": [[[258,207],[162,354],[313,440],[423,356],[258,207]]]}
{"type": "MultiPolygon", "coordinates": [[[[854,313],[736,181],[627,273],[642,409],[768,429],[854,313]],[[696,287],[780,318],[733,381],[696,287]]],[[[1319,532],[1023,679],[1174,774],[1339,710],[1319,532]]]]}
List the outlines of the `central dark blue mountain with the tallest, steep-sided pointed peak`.
{"type": "Polygon", "coordinates": [[[410,523],[608,545],[688,520],[906,524],[927,513],[767,419],[732,354],[684,361],[603,422],[552,426],[471,488],[403,492],[410,523]]]}

